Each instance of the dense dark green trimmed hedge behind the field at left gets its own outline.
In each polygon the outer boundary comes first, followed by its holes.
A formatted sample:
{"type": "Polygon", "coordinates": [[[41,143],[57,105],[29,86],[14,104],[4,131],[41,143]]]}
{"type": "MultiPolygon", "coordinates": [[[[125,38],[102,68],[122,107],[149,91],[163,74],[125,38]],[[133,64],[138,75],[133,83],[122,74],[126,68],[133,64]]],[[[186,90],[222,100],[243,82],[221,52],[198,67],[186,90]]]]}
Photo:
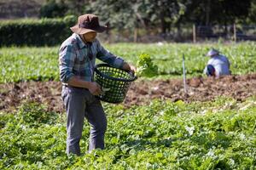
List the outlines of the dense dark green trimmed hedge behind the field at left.
{"type": "Polygon", "coordinates": [[[60,44],[72,34],[69,27],[76,18],[41,20],[7,20],[0,22],[0,47],[52,46],[60,44]]]}

